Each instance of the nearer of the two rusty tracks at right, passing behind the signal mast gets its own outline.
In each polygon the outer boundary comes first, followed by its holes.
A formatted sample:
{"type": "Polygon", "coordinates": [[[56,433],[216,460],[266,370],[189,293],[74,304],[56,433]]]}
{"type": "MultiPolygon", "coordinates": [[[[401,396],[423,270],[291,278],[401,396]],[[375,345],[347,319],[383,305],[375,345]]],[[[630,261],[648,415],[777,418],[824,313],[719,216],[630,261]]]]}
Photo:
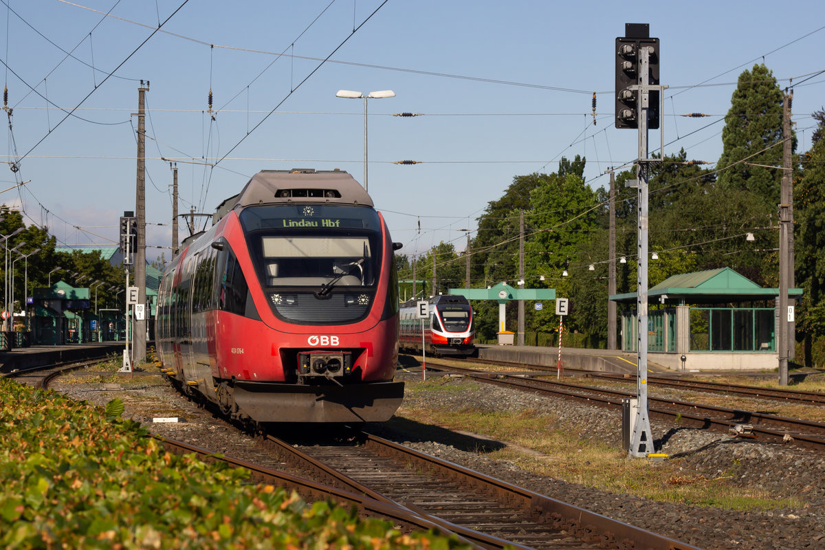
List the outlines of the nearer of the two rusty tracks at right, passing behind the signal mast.
{"type": "MultiPolygon", "coordinates": [[[[601,407],[623,407],[623,401],[635,397],[635,393],[593,388],[543,378],[530,378],[524,374],[479,373],[474,369],[455,367],[428,361],[428,369],[441,369],[471,376],[483,382],[495,383],[522,391],[540,393],[589,402],[601,407]]],[[[683,425],[713,428],[723,432],[738,430],[748,436],[775,443],[792,441],[799,446],[825,451],[825,424],[756,411],[744,411],[728,407],[714,407],[698,402],[651,397],[648,394],[648,413],[668,421],[678,419],[683,425]]]]}

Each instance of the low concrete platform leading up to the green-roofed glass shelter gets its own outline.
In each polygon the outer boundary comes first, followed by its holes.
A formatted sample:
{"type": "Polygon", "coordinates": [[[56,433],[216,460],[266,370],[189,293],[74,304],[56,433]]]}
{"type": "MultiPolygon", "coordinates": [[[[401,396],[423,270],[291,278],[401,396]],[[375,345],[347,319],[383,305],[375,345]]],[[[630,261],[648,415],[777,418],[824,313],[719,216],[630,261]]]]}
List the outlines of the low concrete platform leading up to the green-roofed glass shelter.
{"type": "MultiPolygon", "coordinates": [[[[556,366],[559,348],[540,346],[476,345],[479,358],[521,364],[556,366]]],[[[636,354],[620,350],[587,350],[562,346],[562,364],[565,369],[587,369],[604,373],[636,374],[636,354]]],[[[648,372],[672,373],[661,364],[648,360],[648,372]]]]}

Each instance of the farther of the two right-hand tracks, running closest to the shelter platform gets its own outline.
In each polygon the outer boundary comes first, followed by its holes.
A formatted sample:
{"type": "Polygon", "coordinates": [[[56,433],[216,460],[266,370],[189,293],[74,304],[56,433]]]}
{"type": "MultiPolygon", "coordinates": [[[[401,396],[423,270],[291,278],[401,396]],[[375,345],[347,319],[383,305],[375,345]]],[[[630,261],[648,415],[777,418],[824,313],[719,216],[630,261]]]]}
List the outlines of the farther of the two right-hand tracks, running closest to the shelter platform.
{"type": "MultiPolygon", "coordinates": [[[[450,358],[453,360],[453,358],[450,358]]],[[[556,367],[541,364],[509,363],[506,361],[494,361],[483,359],[455,359],[463,363],[494,364],[500,366],[513,367],[517,369],[530,369],[540,372],[556,373],[556,367]]],[[[431,364],[432,361],[428,361],[431,364]]],[[[622,382],[635,383],[635,374],[610,374],[584,369],[563,369],[564,374],[583,376],[586,378],[602,378],[606,380],[616,380],[622,382]]],[[[758,397],[760,399],[770,399],[782,402],[800,402],[806,404],[825,405],[825,393],[805,392],[791,388],[761,388],[759,386],[747,386],[743,384],[730,384],[709,382],[703,380],[687,380],[683,378],[669,378],[664,376],[648,376],[648,386],[660,386],[676,389],[693,389],[698,392],[724,393],[725,395],[737,395],[742,397],[758,397]]]]}

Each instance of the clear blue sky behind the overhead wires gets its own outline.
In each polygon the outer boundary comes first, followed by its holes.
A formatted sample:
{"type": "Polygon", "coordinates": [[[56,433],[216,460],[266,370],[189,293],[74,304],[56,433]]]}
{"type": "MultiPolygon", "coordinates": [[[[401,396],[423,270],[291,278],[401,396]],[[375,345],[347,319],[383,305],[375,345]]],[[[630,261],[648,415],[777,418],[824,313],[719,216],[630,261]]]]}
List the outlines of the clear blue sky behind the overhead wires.
{"type": "Polygon", "coordinates": [[[561,157],[587,157],[588,183],[605,186],[608,167],[636,156],[636,132],[613,127],[625,22],[660,39],[666,153],[716,161],[738,75],[763,56],[780,86],[800,82],[800,150],[825,106],[825,74],[813,76],[825,69],[822,2],[183,1],[2,0],[13,110],[0,160],[22,159],[18,172],[0,164],[0,189],[29,182],[0,200],[26,223],[68,245],[116,242],[135,204],[141,79],[150,258],[171,243],[161,157],[177,160],[181,213],[213,212],[262,169],[338,167],[362,181],[363,101],[339,89],[396,94],[369,101],[369,190],[402,252],[462,250],[459,229],[513,176],[554,172],[561,157]],[[691,112],[712,116],[679,116],[691,112]]]}

